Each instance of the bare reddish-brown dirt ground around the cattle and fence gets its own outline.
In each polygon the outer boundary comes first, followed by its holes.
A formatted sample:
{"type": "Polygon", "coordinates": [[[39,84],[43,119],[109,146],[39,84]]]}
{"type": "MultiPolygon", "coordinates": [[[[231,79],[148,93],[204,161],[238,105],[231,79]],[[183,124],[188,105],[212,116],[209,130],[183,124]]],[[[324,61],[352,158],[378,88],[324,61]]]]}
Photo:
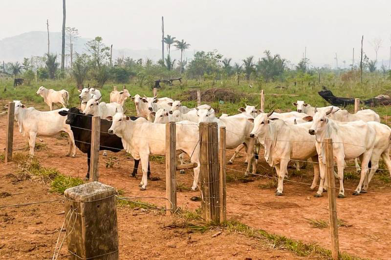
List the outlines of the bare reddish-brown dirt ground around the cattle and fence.
{"type": "MultiPolygon", "coordinates": [[[[0,151],[5,147],[6,117],[0,117],[0,151]]],[[[15,125],[17,125],[15,123],[15,125]]],[[[65,157],[68,149],[67,140],[55,137],[40,137],[48,144],[47,151],[36,152],[41,164],[55,167],[61,173],[83,178],[87,172],[87,158],[77,150],[76,158],[65,157]]],[[[14,151],[26,152],[27,138],[23,138],[15,127],[14,151]]],[[[227,158],[231,156],[228,152],[227,158]]],[[[107,158],[100,157],[100,181],[123,189],[124,196],[165,196],[165,165],[152,161],[152,176],[162,180],[149,181],[146,191],[140,191],[136,180],[129,174],[133,167],[132,160],[126,160],[125,152],[110,153],[119,161],[113,168],[105,167],[107,158]]],[[[244,171],[244,158],[237,159],[228,168],[244,171]]],[[[260,174],[271,174],[271,168],[261,159],[260,174]]],[[[312,166],[300,172],[300,176],[292,175],[289,179],[305,183],[312,181],[312,166]]],[[[29,181],[15,182],[6,177],[12,173],[11,166],[0,164],[0,192],[8,192],[10,197],[0,198],[0,205],[26,201],[50,200],[58,196],[48,193],[39,183],[29,181]],[[17,194],[21,193],[22,194],[17,194]]],[[[139,169],[141,172],[141,169],[139,169]]],[[[234,174],[227,170],[227,174],[234,174]]],[[[200,202],[190,198],[198,196],[199,191],[188,190],[192,183],[192,172],[177,175],[179,189],[177,203],[182,208],[195,209],[200,202]]],[[[139,173],[140,176],[140,173],[139,173]]],[[[235,218],[254,228],[261,228],[269,233],[284,235],[291,239],[303,240],[307,243],[330,249],[329,229],[313,228],[306,219],[327,220],[328,202],[326,193],[322,198],[314,198],[314,191],[309,185],[284,181],[284,196],[274,196],[275,188],[261,188],[267,184],[267,178],[253,178],[253,182],[227,183],[227,218],[235,218]]],[[[358,180],[345,181],[347,189],[354,189],[358,180]]],[[[336,183],[338,186],[339,184],[336,183]]],[[[345,220],[349,227],[340,227],[339,243],[342,252],[370,259],[391,259],[391,189],[390,184],[380,180],[370,183],[369,191],[360,196],[352,196],[346,190],[346,198],[337,200],[338,218],[345,220]],[[387,193],[387,194],[385,194],[387,193]]],[[[165,205],[164,200],[145,199],[157,205],[165,205]]],[[[64,220],[63,203],[54,202],[35,206],[6,208],[0,210],[0,256],[3,258],[25,259],[51,258],[58,231],[64,220]],[[8,216],[5,216],[8,215],[8,216]],[[42,223],[41,223],[42,222],[42,223]],[[21,236],[22,234],[22,236],[21,236]]],[[[292,253],[261,248],[257,241],[239,235],[223,234],[212,239],[211,232],[204,235],[186,234],[183,230],[163,229],[165,223],[172,221],[170,217],[153,216],[152,214],[132,215],[130,209],[120,208],[118,211],[120,252],[122,259],[146,258],[190,258],[199,259],[298,259],[292,253]],[[147,218],[147,219],[146,219],[147,218]],[[147,221],[146,221],[147,220],[147,221]],[[130,224],[131,223],[131,224],[130,224]],[[189,239],[189,236],[191,237],[189,239]],[[218,240],[218,241],[217,241],[218,240]],[[193,242],[194,241],[194,242],[193,242]]],[[[65,254],[65,251],[64,251],[65,254]]],[[[301,258],[302,259],[302,258],[301,258]]]]}

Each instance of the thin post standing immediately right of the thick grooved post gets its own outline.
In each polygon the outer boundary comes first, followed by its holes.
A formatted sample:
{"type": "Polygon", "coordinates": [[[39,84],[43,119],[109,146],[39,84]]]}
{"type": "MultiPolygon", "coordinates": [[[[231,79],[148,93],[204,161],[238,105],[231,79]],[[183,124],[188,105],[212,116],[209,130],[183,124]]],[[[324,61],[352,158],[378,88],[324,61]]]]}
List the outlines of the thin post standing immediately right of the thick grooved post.
{"type": "Polygon", "coordinates": [[[225,126],[220,127],[220,175],[218,177],[219,180],[219,188],[220,188],[220,223],[227,221],[227,179],[225,174],[225,165],[226,165],[226,141],[225,141],[225,126]]]}

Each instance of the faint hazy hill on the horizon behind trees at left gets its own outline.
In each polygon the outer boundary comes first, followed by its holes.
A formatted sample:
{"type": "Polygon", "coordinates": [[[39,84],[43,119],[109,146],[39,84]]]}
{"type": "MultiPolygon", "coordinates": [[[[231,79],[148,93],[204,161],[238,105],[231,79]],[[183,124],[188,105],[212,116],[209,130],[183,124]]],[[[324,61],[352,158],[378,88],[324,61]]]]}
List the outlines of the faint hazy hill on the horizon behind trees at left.
{"type": "MultiPolygon", "coordinates": [[[[61,54],[61,33],[60,32],[50,32],[50,52],[61,54]]],[[[84,53],[85,44],[88,40],[87,38],[79,38],[73,44],[74,52],[84,53]]],[[[106,42],[107,45],[109,43],[106,42]]],[[[113,46],[113,60],[117,57],[130,57],[133,59],[152,59],[157,61],[161,58],[161,50],[159,49],[149,49],[149,50],[132,50],[129,48],[126,49],[116,49],[115,44],[113,46]]],[[[0,40],[0,61],[4,60],[5,62],[15,62],[22,61],[23,58],[31,56],[43,56],[47,52],[47,32],[33,31],[23,33],[21,35],[4,38],[0,40]]],[[[65,53],[68,53],[65,51],[65,53]]],[[[166,53],[166,52],[165,52],[166,53]]],[[[171,54],[174,59],[180,59],[180,52],[175,51],[172,47],[171,54]]],[[[166,53],[167,55],[167,53],[166,53]]],[[[186,51],[184,59],[186,56],[189,58],[193,57],[190,51],[186,51]]]]}

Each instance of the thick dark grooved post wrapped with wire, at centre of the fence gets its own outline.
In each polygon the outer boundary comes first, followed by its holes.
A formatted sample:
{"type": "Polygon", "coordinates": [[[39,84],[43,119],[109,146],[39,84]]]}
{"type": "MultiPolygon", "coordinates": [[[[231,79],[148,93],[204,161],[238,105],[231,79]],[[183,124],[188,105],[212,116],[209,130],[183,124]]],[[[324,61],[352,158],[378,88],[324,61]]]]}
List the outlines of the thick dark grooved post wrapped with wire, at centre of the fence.
{"type": "Polygon", "coordinates": [[[200,176],[202,218],[206,222],[220,221],[220,188],[218,167],[217,122],[199,124],[200,176]]]}

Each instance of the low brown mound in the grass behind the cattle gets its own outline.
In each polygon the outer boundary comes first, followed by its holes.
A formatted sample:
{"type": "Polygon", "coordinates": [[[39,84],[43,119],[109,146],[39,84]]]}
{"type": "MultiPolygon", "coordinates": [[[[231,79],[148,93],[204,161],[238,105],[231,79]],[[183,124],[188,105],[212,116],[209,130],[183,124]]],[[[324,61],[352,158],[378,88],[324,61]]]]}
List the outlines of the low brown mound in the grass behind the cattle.
{"type": "MultiPolygon", "coordinates": [[[[182,100],[197,100],[197,90],[188,90],[182,94],[182,100]]],[[[201,101],[213,102],[218,100],[239,102],[243,98],[243,93],[239,93],[229,88],[211,88],[201,90],[201,101]]]]}

